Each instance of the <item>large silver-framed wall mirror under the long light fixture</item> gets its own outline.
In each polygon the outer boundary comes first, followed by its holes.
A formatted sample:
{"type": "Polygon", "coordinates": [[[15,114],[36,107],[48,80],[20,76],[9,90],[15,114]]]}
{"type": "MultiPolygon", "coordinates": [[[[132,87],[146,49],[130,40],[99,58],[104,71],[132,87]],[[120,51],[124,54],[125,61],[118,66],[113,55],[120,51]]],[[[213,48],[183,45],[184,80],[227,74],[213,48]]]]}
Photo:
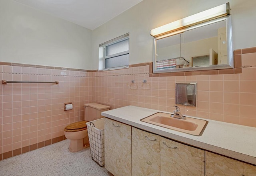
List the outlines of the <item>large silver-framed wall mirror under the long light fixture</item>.
{"type": "Polygon", "coordinates": [[[232,16],[154,37],[153,73],[234,68],[232,16]]]}

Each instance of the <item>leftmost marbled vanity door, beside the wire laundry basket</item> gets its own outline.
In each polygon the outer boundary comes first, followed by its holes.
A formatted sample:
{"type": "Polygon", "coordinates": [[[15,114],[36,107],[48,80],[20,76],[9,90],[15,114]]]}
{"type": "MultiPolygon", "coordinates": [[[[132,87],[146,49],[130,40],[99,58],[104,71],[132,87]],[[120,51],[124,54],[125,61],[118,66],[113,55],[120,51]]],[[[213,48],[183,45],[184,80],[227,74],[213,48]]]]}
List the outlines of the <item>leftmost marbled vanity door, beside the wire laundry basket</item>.
{"type": "Polygon", "coordinates": [[[105,168],[115,176],[132,175],[132,128],[106,118],[105,168]]]}

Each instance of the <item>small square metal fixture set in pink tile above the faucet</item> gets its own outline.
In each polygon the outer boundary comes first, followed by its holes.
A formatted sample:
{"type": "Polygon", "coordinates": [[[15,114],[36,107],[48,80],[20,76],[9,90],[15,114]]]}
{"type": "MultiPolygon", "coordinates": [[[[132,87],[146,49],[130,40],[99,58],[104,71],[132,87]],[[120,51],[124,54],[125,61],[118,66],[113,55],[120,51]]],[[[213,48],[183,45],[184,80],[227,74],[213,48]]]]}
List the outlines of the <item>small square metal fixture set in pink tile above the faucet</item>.
{"type": "Polygon", "coordinates": [[[176,104],[196,106],[196,83],[176,83],[176,104]]]}

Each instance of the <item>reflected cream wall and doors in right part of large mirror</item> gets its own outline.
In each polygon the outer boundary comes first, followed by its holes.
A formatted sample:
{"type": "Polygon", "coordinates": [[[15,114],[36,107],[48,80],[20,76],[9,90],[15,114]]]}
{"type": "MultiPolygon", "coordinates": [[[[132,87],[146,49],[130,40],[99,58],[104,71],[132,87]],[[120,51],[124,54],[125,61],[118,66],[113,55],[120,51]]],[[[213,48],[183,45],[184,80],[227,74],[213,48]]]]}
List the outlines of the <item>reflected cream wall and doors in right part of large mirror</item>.
{"type": "Polygon", "coordinates": [[[227,64],[225,20],[185,31],[184,39],[184,58],[190,61],[189,66],[227,64]]]}

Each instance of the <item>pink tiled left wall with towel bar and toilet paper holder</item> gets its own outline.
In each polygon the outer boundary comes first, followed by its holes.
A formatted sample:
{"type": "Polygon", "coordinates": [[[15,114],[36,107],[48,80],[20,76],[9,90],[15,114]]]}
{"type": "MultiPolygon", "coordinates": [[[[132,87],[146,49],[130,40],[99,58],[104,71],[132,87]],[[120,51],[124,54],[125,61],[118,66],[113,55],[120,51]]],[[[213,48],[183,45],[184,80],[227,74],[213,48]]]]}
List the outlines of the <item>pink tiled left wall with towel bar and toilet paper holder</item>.
{"type": "Polygon", "coordinates": [[[64,135],[92,102],[92,72],[0,65],[0,80],[59,81],[0,86],[0,154],[64,135]],[[73,110],[64,111],[64,102],[73,110]]]}

